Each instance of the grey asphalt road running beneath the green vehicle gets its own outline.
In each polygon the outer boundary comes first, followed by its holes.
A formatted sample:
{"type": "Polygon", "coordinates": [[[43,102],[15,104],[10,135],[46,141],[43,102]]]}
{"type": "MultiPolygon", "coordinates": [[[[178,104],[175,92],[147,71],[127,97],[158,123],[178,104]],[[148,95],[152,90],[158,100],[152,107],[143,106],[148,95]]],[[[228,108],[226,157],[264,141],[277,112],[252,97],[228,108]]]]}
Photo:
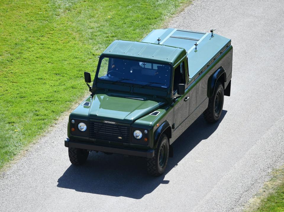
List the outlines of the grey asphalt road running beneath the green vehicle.
{"type": "Polygon", "coordinates": [[[0,211],[240,211],[284,163],[283,8],[198,0],[170,22],[231,38],[233,76],[221,120],[199,117],[174,143],[164,175],[115,154],[71,165],[65,117],[0,176],[0,211]]]}

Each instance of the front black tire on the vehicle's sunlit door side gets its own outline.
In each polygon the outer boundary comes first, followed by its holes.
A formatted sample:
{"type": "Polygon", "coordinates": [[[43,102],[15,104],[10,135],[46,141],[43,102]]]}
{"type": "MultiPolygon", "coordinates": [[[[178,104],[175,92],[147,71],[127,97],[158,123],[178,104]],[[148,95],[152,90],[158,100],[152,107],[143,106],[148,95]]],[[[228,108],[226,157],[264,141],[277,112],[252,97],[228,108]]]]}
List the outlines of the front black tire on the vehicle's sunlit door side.
{"type": "Polygon", "coordinates": [[[150,175],[160,176],[164,173],[169,159],[169,139],[162,134],[154,157],[147,158],[147,171],[150,175]]]}

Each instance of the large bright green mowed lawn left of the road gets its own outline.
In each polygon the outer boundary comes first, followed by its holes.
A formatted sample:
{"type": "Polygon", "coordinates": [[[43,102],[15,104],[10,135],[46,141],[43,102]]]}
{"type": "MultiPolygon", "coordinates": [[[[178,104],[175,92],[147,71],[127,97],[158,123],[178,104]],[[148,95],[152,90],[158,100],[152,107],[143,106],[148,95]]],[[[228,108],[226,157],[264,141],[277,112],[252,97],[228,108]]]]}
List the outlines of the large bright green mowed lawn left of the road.
{"type": "Polygon", "coordinates": [[[185,4],[0,1],[0,168],[87,94],[83,72],[113,40],[141,40],[185,4]]]}

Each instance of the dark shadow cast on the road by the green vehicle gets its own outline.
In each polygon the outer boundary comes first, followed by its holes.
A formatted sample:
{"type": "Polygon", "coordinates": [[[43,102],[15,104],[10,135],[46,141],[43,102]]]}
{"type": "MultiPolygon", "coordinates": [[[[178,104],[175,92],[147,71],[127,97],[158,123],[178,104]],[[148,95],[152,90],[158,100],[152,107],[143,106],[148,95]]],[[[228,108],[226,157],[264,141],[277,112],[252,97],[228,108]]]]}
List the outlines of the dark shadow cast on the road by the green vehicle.
{"type": "Polygon", "coordinates": [[[91,152],[83,166],[70,165],[58,179],[57,187],[141,199],[160,184],[169,183],[169,180],[164,180],[164,176],[190,154],[199,142],[209,138],[226,113],[227,111],[223,110],[220,120],[214,124],[206,123],[203,115],[199,116],[173,143],[174,157],[169,158],[166,172],[160,177],[151,177],[147,174],[145,158],[91,152]]]}

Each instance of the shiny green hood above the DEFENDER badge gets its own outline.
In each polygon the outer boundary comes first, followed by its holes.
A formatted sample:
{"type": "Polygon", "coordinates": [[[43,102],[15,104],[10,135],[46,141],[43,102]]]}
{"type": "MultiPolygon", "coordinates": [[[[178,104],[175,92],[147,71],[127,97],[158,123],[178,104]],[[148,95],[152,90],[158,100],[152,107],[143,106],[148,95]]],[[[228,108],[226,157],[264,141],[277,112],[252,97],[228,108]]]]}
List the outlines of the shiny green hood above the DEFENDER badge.
{"type": "Polygon", "coordinates": [[[89,118],[131,124],[165,104],[166,102],[159,100],[96,94],[90,107],[89,118]]]}

